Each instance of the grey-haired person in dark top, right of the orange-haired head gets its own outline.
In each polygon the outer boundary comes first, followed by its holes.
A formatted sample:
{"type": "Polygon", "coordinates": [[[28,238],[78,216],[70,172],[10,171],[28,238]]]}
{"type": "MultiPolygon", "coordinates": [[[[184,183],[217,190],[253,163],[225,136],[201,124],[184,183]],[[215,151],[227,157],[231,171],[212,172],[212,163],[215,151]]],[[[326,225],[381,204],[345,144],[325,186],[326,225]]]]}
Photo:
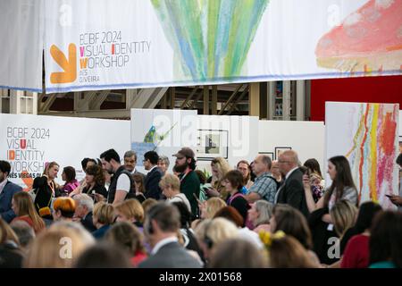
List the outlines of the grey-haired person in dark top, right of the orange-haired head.
{"type": "Polygon", "coordinates": [[[87,194],[78,194],[72,197],[76,203],[74,217],[80,221],[82,226],[89,232],[96,231],[96,226],[92,221],[92,210],[94,209],[94,200],[87,194]]]}

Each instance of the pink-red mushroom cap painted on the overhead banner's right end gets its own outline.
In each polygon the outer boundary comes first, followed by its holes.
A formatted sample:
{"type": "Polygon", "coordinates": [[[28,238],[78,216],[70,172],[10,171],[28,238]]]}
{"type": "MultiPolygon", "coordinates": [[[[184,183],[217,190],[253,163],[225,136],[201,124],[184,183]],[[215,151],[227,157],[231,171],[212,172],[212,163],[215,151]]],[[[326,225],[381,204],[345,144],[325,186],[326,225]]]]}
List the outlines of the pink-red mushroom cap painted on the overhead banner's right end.
{"type": "Polygon", "coordinates": [[[322,36],[318,65],[351,75],[402,70],[401,14],[401,0],[368,1],[322,36]]]}

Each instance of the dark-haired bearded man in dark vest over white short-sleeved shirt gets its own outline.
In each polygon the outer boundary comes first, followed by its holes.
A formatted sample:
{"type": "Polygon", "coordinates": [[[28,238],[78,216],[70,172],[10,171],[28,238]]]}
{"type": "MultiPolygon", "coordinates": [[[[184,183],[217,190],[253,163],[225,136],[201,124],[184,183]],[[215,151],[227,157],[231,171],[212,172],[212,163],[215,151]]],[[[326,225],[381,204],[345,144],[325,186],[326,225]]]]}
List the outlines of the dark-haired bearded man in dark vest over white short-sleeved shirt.
{"type": "Polygon", "coordinates": [[[113,173],[113,179],[110,182],[107,193],[107,202],[116,206],[126,198],[134,198],[136,192],[133,187],[133,179],[124,165],[121,165],[119,154],[114,149],[109,149],[102,153],[100,158],[102,168],[109,173],[113,173]]]}

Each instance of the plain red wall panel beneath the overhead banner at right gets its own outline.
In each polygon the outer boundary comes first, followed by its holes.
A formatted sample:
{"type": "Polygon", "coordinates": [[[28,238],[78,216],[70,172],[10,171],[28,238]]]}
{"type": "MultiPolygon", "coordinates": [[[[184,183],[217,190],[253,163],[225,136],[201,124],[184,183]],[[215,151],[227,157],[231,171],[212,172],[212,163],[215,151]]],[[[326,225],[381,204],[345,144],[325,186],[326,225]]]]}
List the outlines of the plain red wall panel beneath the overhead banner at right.
{"type": "Polygon", "coordinates": [[[312,80],[312,121],[324,121],[326,101],[398,103],[402,109],[402,76],[312,80]]]}

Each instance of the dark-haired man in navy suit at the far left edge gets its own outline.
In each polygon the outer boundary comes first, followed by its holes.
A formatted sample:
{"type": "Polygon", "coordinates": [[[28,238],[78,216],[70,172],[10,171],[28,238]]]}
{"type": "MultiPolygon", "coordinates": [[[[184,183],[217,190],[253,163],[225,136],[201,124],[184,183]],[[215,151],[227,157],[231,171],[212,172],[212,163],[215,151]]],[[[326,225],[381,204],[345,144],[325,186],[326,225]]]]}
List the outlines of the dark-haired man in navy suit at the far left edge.
{"type": "Polygon", "coordinates": [[[7,180],[11,171],[11,165],[7,161],[0,161],[0,216],[5,222],[13,221],[15,214],[12,209],[12,201],[15,193],[22,188],[7,180]]]}

